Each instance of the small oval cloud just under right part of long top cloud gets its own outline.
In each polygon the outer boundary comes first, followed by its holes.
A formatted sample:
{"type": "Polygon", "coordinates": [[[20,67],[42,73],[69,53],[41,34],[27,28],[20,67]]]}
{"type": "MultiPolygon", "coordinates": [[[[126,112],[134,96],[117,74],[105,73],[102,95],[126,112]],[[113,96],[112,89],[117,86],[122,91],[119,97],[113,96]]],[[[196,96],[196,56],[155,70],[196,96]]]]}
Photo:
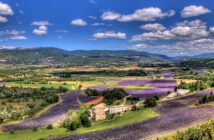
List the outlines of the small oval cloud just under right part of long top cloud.
{"type": "Polygon", "coordinates": [[[166,29],[166,27],[159,23],[145,24],[140,26],[140,28],[148,31],[162,31],[166,29]]]}

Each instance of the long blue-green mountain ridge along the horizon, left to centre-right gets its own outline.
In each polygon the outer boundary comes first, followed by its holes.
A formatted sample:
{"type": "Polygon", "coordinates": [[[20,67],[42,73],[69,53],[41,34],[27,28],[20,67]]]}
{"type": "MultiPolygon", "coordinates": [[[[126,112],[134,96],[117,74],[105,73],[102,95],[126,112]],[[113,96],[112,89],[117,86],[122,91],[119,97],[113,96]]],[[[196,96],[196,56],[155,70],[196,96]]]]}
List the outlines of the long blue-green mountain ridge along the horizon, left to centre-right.
{"type": "Polygon", "coordinates": [[[76,50],[59,48],[0,49],[0,62],[26,65],[124,65],[137,62],[171,61],[170,57],[131,50],[76,50]]]}

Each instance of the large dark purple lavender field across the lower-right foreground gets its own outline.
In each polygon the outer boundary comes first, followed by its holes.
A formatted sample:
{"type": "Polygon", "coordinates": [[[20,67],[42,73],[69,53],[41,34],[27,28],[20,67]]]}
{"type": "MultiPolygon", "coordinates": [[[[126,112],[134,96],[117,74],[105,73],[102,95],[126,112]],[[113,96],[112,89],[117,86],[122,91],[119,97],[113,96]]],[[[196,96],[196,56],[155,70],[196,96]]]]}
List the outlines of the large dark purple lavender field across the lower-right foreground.
{"type": "Polygon", "coordinates": [[[153,135],[188,127],[198,121],[206,121],[207,119],[214,118],[213,106],[192,106],[203,95],[209,94],[211,91],[214,91],[214,89],[164,102],[155,109],[160,113],[159,117],[141,123],[59,138],[58,140],[103,140],[103,138],[107,140],[150,139],[153,135]]]}

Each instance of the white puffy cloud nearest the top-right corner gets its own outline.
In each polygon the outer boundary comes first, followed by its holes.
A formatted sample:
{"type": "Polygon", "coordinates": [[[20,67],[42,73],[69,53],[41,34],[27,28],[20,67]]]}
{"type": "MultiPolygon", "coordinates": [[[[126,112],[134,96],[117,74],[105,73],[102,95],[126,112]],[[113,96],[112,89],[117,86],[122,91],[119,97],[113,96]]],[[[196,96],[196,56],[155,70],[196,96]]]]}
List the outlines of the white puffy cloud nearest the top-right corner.
{"type": "Polygon", "coordinates": [[[201,5],[190,5],[187,7],[184,7],[184,9],[181,11],[181,16],[184,18],[188,17],[194,17],[194,16],[199,16],[203,15],[206,13],[210,13],[211,11],[201,5]]]}

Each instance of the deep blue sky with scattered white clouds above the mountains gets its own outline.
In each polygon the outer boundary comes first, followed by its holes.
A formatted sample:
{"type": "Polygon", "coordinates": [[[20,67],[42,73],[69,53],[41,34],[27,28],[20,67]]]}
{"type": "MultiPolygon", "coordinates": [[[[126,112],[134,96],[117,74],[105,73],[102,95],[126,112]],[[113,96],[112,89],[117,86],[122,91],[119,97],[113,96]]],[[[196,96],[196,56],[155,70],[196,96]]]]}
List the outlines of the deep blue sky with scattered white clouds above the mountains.
{"type": "Polygon", "coordinates": [[[0,48],[214,52],[213,0],[0,0],[0,48]]]}

